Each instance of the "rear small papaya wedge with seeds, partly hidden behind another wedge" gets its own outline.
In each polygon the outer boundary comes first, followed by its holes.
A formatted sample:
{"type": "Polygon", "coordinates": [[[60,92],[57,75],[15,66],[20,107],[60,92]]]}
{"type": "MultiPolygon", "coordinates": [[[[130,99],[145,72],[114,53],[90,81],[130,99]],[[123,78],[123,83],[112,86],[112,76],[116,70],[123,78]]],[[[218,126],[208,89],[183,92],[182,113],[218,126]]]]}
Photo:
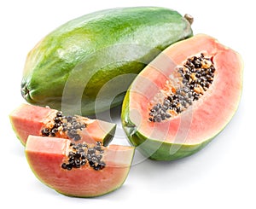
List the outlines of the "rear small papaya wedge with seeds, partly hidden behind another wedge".
{"type": "Polygon", "coordinates": [[[102,142],[113,138],[116,125],[82,116],[65,116],[49,107],[21,104],[9,115],[11,124],[22,144],[29,135],[56,136],[79,142],[102,142]]]}

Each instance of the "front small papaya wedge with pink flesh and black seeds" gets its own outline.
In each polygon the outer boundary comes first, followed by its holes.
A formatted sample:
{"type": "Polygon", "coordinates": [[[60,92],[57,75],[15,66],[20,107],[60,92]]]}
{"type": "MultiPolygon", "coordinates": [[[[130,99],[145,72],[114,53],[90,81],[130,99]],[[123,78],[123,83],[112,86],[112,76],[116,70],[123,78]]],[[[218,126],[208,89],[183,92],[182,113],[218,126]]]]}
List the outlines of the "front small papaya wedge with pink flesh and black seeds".
{"type": "Polygon", "coordinates": [[[65,138],[28,136],[26,142],[26,159],[36,177],[61,194],[77,197],[118,189],[130,171],[133,155],[133,147],[103,147],[65,138]]]}

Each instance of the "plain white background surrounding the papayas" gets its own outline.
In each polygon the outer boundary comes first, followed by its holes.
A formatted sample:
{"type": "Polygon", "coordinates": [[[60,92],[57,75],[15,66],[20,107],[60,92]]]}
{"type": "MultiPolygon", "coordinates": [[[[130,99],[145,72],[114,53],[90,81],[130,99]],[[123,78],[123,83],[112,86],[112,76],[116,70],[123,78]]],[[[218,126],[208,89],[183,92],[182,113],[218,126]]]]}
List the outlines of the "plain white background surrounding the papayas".
{"type": "MultiPolygon", "coordinates": [[[[0,3],[0,207],[13,208],[255,208],[255,15],[253,1],[1,1],[0,3]],[[133,165],[121,189],[98,198],[70,198],[40,183],[26,163],[9,113],[25,102],[20,80],[26,54],[67,20],[99,9],[162,6],[195,18],[194,33],[207,33],[238,51],[244,85],[235,117],[207,148],[173,162],[133,165]],[[18,205],[17,205],[18,204],[18,205]],[[99,207],[100,208],[100,207],[99,207]]],[[[125,141],[121,126],[118,138],[125,141]]]]}

